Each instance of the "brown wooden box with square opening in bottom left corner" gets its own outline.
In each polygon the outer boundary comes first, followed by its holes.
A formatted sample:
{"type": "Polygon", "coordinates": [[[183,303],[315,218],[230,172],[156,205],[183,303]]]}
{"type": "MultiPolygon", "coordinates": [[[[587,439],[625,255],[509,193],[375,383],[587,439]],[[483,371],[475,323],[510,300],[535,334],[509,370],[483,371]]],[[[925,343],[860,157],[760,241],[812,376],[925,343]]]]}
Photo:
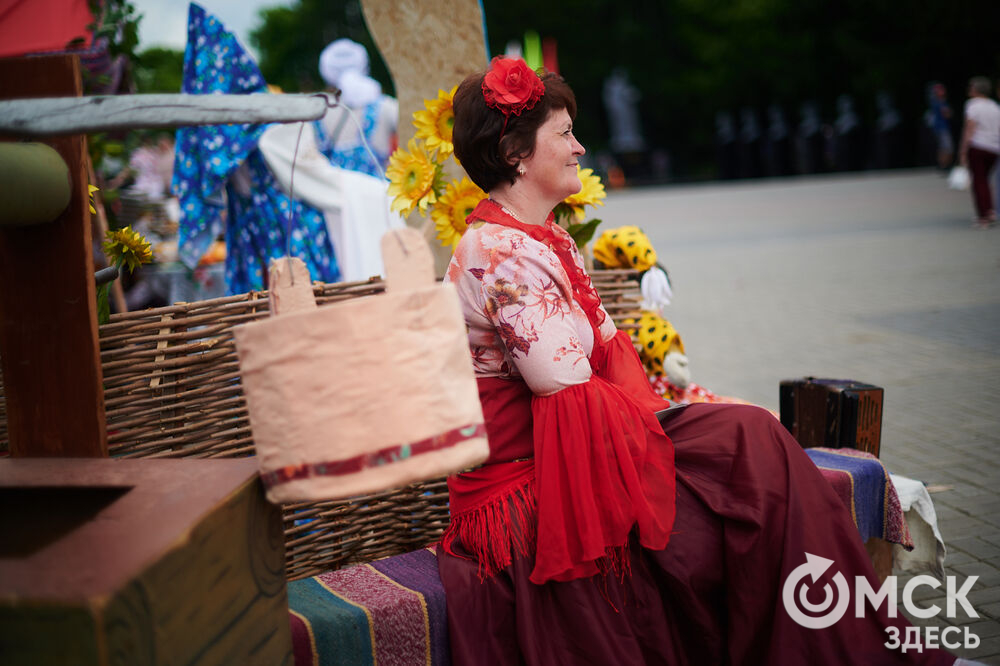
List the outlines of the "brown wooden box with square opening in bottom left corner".
{"type": "Polygon", "coordinates": [[[291,664],[257,463],[0,460],[0,663],[291,664]]]}

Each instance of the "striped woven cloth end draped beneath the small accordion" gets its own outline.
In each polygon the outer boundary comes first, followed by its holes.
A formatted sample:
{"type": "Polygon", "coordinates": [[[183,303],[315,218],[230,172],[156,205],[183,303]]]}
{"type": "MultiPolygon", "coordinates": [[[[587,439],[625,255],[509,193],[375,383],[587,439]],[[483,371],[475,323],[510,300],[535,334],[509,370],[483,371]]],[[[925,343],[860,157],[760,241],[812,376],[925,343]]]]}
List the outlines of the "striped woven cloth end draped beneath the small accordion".
{"type": "Polygon", "coordinates": [[[885,539],[913,549],[913,539],[889,472],[878,458],[854,449],[806,449],[851,512],[861,540],[885,539]]]}

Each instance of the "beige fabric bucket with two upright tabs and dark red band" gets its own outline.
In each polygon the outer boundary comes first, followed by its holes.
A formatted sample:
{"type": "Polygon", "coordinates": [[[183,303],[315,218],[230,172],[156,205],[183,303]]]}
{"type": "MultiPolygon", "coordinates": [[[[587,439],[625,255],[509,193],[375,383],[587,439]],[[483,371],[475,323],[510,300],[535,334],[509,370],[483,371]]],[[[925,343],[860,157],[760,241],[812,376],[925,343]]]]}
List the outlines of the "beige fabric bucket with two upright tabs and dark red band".
{"type": "Polygon", "coordinates": [[[272,316],[234,329],[272,502],[377,492],[489,455],[455,288],[435,284],[415,229],[385,234],[382,255],[385,294],[322,308],[305,265],[278,259],[272,316]]]}

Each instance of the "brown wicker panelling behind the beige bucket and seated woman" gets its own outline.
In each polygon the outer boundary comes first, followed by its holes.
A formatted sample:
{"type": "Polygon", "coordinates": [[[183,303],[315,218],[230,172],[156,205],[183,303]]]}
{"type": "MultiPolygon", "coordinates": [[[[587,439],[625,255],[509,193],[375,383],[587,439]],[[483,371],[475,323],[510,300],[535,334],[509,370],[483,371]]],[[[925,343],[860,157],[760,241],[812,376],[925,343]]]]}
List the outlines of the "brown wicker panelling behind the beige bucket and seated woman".
{"type": "MultiPolygon", "coordinates": [[[[591,276],[619,325],[638,308],[637,274],[591,276]]],[[[380,279],[314,285],[322,307],[384,291],[380,279]]],[[[265,317],[267,292],[113,315],[101,326],[108,448],[119,458],[253,455],[232,327],[265,317]]],[[[0,448],[7,419],[0,377],[0,448]]],[[[283,506],[289,580],[435,542],[448,524],[445,479],[330,502],[283,506]]]]}

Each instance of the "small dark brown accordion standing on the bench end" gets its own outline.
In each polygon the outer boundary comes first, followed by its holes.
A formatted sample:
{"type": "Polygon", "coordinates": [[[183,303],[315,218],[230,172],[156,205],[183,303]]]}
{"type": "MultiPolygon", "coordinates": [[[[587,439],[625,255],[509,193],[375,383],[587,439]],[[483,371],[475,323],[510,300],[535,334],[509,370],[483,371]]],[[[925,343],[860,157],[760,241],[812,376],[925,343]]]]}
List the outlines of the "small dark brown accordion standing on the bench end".
{"type": "Polygon", "coordinates": [[[877,457],[883,394],[849,379],[786,379],[779,393],[781,425],[803,448],[857,449],[877,457]]]}

